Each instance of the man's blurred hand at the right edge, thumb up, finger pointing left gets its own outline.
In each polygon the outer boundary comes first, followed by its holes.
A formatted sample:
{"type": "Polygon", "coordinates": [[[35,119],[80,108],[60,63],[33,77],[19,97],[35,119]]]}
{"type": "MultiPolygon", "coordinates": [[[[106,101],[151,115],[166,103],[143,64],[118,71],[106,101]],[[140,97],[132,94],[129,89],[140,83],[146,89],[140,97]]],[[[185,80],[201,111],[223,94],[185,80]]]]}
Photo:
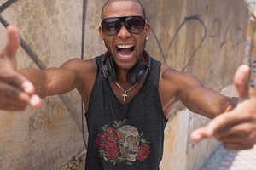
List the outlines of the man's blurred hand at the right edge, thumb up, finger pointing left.
{"type": "Polygon", "coordinates": [[[191,133],[193,141],[215,137],[227,150],[246,150],[256,144],[256,94],[247,87],[247,65],[241,65],[235,74],[234,83],[239,94],[239,104],[232,111],[215,117],[207,127],[191,133]]]}

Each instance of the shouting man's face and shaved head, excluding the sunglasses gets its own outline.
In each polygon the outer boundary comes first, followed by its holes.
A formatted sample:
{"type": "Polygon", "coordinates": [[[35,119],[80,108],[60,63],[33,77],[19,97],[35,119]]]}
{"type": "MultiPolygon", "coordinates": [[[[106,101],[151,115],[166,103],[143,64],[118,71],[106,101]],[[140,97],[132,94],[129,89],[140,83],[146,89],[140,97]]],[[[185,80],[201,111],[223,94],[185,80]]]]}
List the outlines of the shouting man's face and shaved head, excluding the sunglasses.
{"type": "MultiPolygon", "coordinates": [[[[143,16],[140,5],[136,2],[113,2],[104,8],[102,20],[110,17],[143,16]]],[[[145,29],[140,33],[129,32],[125,25],[112,36],[105,35],[102,26],[100,36],[104,40],[109,53],[121,69],[130,69],[137,61],[143,61],[143,49],[146,45],[146,36],[150,35],[150,25],[146,21],[145,29]]]]}

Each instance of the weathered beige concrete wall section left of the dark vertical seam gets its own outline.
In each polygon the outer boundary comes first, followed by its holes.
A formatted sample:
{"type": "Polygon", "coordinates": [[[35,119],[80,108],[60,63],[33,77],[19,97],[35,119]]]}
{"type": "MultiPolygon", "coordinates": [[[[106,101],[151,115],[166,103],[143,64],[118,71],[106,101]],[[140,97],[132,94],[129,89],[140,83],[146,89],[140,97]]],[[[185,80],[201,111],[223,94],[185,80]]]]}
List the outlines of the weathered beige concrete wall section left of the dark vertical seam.
{"type": "MultiPolygon", "coordinates": [[[[6,8],[1,16],[17,27],[24,40],[18,67],[58,67],[67,59],[80,57],[82,4],[28,0],[16,1],[6,8]]],[[[3,48],[3,25],[0,29],[3,48]]],[[[75,91],[44,99],[38,110],[1,111],[0,169],[60,167],[85,150],[81,117],[81,98],[75,91]]]]}

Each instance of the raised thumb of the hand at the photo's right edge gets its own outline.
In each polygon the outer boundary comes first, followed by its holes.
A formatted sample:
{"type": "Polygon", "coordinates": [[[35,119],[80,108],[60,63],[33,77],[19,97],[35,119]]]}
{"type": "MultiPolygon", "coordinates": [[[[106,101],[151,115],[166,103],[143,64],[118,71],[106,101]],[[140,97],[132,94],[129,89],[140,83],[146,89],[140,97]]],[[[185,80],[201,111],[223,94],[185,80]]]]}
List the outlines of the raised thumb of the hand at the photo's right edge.
{"type": "Polygon", "coordinates": [[[246,83],[250,67],[248,65],[241,65],[234,76],[234,84],[239,94],[240,102],[248,98],[248,87],[246,83]]]}

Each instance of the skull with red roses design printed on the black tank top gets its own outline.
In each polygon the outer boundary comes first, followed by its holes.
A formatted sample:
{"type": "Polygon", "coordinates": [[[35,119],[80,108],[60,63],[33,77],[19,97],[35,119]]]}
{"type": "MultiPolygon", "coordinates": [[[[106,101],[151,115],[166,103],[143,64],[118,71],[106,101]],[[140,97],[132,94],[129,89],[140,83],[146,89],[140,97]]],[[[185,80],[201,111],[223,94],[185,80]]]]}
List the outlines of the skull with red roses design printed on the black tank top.
{"type": "Polygon", "coordinates": [[[125,120],[113,121],[112,126],[106,124],[102,133],[96,135],[95,146],[99,149],[99,157],[113,166],[117,163],[131,166],[134,161],[145,161],[150,153],[150,142],[143,132],[139,134],[136,127],[124,123],[125,120]]]}

